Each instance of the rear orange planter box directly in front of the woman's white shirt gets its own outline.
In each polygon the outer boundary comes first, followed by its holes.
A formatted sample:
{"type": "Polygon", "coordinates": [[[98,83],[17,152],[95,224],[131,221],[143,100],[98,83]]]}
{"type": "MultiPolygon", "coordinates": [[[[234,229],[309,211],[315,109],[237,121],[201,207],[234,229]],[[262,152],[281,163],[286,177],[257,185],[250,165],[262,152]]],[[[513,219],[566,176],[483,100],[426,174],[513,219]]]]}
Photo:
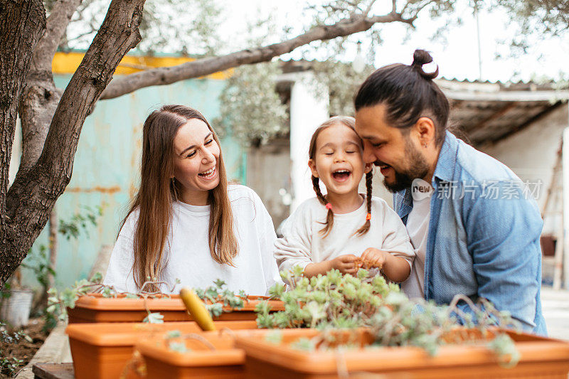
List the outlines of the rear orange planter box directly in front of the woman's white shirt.
{"type": "MultiPolygon", "coordinates": [[[[215,321],[245,321],[255,320],[255,306],[267,297],[250,296],[243,308],[223,312],[214,318],[215,321]]],[[[270,300],[272,311],[283,311],[285,306],[280,300],[270,300]]],[[[102,297],[100,294],[88,294],[75,302],[75,308],[68,308],[69,324],[85,322],[142,322],[148,316],[147,309],[159,312],[164,316],[165,322],[191,321],[186,306],[179,295],[163,297],[161,299],[126,299],[102,297]]],[[[229,310],[227,307],[225,310],[229,310]]]]}

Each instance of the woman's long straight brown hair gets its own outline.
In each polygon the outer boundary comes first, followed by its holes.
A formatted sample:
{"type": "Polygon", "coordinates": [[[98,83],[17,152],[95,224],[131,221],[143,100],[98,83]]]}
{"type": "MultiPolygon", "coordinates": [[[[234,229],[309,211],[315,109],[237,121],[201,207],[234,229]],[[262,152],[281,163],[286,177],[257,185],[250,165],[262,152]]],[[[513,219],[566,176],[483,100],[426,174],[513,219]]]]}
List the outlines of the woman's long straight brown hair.
{"type": "MultiPolygon", "coordinates": [[[[144,122],[142,132],[141,181],[137,195],[130,205],[127,217],[139,210],[134,231],[133,276],[137,288],[147,280],[164,277],[166,242],[171,230],[172,203],[180,191],[174,176],[174,137],[178,129],[190,119],[203,121],[213,133],[213,139],[220,146],[218,136],[203,114],[184,105],[164,105],[152,112],[144,122]]],[[[213,260],[233,266],[238,255],[238,242],[233,231],[233,212],[228,196],[228,181],[221,151],[218,159],[219,184],[209,191],[211,206],[209,218],[209,250],[213,260]]],[[[189,231],[188,231],[189,233],[189,231]]],[[[154,284],[144,291],[155,291],[154,284]]]]}

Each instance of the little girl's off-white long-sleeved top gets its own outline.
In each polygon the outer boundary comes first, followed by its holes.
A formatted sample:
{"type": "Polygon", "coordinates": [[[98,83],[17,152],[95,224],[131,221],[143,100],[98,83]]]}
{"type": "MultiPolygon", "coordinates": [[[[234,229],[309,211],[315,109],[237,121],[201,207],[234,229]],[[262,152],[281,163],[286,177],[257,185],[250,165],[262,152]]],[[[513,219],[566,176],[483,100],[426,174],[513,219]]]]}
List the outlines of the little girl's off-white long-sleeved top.
{"type": "Polygon", "coordinates": [[[303,269],[309,263],[333,260],[340,255],[361,256],[368,247],[390,252],[413,263],[413,246],[405,225],[381,198],[371,198],[371,224],[368,233],[355,235],[366,222],[366,201],[350,213],[334,213],[334,225],[330,234],[323,238],[319,231],[324,228],[328,210],[317,198],[304,201],[287,219],[282,227],[282,238],[275,242],[275,258],[280,271],[294,266],[303,269]]]}

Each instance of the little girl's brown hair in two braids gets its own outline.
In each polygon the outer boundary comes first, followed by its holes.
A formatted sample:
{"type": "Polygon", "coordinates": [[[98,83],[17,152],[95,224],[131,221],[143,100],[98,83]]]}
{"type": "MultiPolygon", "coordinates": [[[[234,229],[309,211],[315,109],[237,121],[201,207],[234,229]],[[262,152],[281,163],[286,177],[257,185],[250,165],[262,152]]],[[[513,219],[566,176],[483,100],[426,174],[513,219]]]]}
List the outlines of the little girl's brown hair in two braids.
{"type": "MultiPolygon", "coordinates": [[[[309,159],[314,160],[314,156],[316,155],[316,144],[317,144],[319,134],[324,129],[329,128],[335,124],[342,124],[346,127],[349,127],[350,129],[352,129],[353,132],[356,132],[356,119],[354,119],[353,117],[334,116],[334,117],[331,117],[330,119],[327,119],[319,127],[317,127],[317,129],[314,130],[314,133],[312,134],[312,139],[310,139],[310,145],[308,148],[309,159]]],[[[361,147],[363,149],[363,145],[361,147]]],[[[371,215],[371,189],[372,189],[371,179],[372,178],[373,178],[373,173],[371,171],[366,173],[366,209],[368,210],[368,215],[371,215]]],[[[326,199],[326,196],[324,196],[322,194],[322,191],[320,191],[320,180],[319,180],[319,178],[317,178],[314,175],[312,176],[312,188],[314,188],[314,192],[316,193],[318,201],[322,205],[326,206],[326,203],[328,203],[328,199],[326,199]]],[[[324,224],[324,228],[322,228],[319,231],[319,233],[321,235],[323,235],[323,238],[326,238],[326,237],[328,237],[328,235],[330,234],[330,232],[332,230],[332,227],[334,226],[334,212],[332,211],[332,208],[328,208],[328,212],[326,212],[326,221],[324,221],[324,223],[322,223],[322,224],[324,224]]],[[[370,225],[371,225],[370,220],[368,220],[366,218],[366,222],[363,223],[363,225],[361,225],[361,228],[356,230],[356,233],[354,233],[354,234],[364,235],[364,234],[368,233],[370,225]]]]}

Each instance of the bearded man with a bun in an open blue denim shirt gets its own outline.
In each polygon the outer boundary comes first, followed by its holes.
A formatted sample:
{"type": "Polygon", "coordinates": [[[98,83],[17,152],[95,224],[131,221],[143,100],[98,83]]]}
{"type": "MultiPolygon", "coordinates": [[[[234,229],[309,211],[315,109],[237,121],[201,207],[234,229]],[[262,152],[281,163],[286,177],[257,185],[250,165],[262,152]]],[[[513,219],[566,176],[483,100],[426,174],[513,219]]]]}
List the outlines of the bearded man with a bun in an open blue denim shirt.
{"type": "Polygon", "coordinates": [[[508,167],[447,130],[449,102],[432,81],[438,68],[425,73],[424,50],[413,58],[376,70],[354,100],[364,161],[381,169],[415,247],[403,290],[437,304],[484,298],[545,335],[537,203],[508,167]]]}

